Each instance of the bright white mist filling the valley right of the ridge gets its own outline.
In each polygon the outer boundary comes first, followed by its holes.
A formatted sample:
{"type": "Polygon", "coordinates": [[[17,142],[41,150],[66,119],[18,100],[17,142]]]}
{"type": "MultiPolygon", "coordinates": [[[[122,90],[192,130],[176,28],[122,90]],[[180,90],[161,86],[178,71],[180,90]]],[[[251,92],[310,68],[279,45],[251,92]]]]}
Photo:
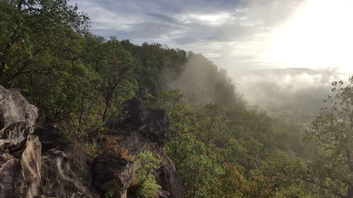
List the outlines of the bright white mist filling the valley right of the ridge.
{"type": "Polygon", "coordinates": [[[325,106],[332,82],[347,80],[349,74],[336,68],[283,68],[239,70],[232,78],[249,105],[275,118],[309,123],[325,106]]]}

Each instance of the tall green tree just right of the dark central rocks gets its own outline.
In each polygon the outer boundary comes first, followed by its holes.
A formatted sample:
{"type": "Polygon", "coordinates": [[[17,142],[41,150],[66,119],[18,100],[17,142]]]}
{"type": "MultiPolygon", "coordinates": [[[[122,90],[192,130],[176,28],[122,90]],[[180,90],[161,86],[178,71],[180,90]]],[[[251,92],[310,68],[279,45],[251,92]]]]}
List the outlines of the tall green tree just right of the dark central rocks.
{"type": "Polygon", "coordinates": [[[221,171],[220,155],[209,152],[205,144],[198,140],[195,135],[196,114],[184,99],[180,89],[160,92],[160,100],[167,109],[173,132],[166,151],[175,163],[185,196],[208,197],[221,171]]]}

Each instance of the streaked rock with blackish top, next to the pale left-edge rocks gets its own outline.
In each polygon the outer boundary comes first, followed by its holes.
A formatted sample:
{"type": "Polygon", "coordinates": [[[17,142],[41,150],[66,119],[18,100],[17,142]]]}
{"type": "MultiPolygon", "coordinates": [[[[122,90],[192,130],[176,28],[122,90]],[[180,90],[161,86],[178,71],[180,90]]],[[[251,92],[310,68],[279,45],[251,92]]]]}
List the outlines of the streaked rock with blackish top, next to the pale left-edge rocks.
{"type": "Polygon", "coordinates": [[[57,123],[38,123],[33,134],[42,143],[42,182],[45,197],[99,197],[92,188],[92,159],[80,145],[65,140],[57,123]]]}

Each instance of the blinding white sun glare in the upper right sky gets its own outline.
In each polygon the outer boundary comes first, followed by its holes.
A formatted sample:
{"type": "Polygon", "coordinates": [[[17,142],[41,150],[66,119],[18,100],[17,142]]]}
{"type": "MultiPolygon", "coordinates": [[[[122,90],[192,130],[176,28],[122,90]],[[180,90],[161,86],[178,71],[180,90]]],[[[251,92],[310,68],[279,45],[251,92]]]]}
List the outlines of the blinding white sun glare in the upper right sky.
{"type": "Polygon", "coordinates": [[[270,35],[263,61],[353,71],[353,1],[309,0],[270,35]]]}

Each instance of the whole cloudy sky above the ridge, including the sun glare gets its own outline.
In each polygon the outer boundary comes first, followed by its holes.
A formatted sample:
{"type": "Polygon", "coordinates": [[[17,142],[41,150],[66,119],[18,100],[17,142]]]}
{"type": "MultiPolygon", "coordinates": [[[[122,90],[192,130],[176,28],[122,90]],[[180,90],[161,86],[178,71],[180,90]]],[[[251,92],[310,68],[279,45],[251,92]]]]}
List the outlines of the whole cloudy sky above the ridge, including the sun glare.
{"type": "MultiPolygon", "coordinates": [[[[72,0],[91,32],[201,52],[229,73],[350,70],[351,0],[72,0]]],[[[353,67],[352,67],[353,68],[353,67]]]]}

